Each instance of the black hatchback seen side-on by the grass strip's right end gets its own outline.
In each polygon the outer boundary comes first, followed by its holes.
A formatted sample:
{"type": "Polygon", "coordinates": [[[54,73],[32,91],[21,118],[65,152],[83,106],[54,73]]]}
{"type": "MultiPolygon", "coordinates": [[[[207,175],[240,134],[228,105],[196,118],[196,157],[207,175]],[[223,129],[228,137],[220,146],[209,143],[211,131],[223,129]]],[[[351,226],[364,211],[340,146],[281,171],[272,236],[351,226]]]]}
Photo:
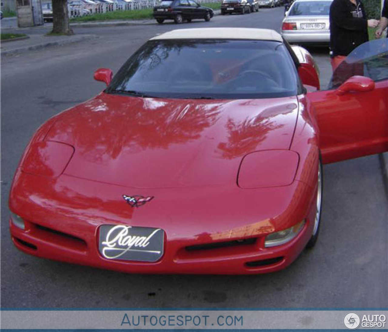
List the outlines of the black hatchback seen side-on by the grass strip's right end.
{"type": "Polygon", "coordinates": [[[153,15],[158,23],[163,23],[165,19],[182,23],[184,20],[191,22],[197,18],[210,21],[214,13],[213,9],[202,7],[193,0],[163,0],[160,5],[154,7],[153,15]]]}

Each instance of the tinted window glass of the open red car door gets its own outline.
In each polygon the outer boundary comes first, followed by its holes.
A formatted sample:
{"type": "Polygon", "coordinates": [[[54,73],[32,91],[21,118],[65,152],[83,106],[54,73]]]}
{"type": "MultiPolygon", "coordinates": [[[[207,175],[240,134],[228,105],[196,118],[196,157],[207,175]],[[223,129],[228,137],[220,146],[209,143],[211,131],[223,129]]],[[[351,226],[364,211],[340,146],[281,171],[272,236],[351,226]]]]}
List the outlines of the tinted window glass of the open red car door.
{"type": "Polygon", "coordinates": [[[354,75],[370,77],[374,81],[388,79],[388,40],[381,38],[361,44],[336,68],[329,89],[339,87],[354,75]]]}

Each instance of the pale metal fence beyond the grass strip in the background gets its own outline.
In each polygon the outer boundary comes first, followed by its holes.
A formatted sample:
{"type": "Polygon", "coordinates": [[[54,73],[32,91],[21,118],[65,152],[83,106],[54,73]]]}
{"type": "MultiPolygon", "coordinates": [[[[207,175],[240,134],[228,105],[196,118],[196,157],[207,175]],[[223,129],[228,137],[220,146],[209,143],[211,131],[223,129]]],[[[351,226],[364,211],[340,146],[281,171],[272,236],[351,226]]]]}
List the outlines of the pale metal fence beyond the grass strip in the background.
{"type": "MultiPolygon", "coordinates": [[[[196,0],[198,3],[221,2],[222,0],[196,0]]],[[[78,1],[69,1],[69,17],[101,14],[115,10],[135,10],[153,8],[160,3],[159,0],[135,0],[131,2],[115,1],[114,3],[85,4],[78,1]]]]}

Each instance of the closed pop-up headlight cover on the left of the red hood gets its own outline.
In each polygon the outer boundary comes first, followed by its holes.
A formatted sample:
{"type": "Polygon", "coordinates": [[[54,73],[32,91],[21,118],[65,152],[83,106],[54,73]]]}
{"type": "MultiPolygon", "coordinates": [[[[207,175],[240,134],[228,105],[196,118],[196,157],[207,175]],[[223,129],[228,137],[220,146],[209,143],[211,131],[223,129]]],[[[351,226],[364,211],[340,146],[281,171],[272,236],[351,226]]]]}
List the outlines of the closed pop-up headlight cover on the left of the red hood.
{"type": "Polygon", "coordinates": [[[33,143],[23,160],[21,169],[25,173],[59,176],[68,165],[73,153],[74,148],[65,143],[33,143]]]}

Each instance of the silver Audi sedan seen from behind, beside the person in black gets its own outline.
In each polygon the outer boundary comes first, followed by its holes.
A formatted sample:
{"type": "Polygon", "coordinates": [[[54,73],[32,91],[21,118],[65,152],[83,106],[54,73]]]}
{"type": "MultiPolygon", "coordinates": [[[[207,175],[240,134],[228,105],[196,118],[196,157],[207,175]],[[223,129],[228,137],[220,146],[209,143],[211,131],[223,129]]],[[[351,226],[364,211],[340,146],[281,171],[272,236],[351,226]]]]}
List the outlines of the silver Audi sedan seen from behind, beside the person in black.
{"type": "Polygon", "coordinates": [[[332,0],[296,0],[286,12],[281,34],[289,43],[328,44],[332,0]]]}

